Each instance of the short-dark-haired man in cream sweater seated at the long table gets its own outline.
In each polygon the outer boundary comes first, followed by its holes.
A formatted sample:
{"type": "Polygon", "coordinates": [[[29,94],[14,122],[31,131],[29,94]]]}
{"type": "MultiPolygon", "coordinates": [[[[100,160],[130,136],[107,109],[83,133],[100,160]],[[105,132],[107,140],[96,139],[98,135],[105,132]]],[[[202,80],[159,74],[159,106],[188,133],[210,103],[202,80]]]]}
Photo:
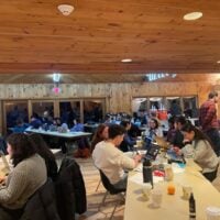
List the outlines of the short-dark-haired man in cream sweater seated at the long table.
{"type": "Polygon", "coordinates": [[[127,189],[128,174],[141,161],[141,155],[128,157],[118,146],[121,144],[125,129],[118,124],[109,127],[109,139],[99,142],[92,153],[95,166],[103,172],[109,182],[119,189],[127,189]]]}

